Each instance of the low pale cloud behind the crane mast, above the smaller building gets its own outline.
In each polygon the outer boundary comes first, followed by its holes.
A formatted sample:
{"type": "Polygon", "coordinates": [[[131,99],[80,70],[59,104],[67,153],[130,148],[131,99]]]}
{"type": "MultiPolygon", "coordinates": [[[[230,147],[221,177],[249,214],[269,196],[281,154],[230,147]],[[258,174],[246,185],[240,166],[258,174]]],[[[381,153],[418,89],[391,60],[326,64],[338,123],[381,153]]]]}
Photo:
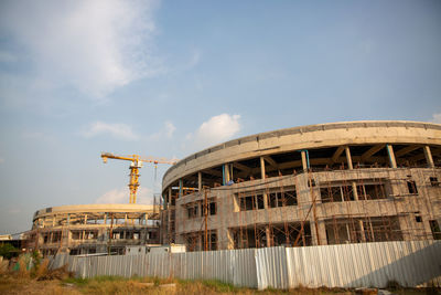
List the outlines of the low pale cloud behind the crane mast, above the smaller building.
{"type": "MultiPolygon", "coordinates": [[[[128,188],[114,189],[96,199],[95,203],[129,203],[129,196],[128,188]]],[[[140,187],[137,193],[137,203],[153,204],[153,191],[149,188],[140,187]]]]}

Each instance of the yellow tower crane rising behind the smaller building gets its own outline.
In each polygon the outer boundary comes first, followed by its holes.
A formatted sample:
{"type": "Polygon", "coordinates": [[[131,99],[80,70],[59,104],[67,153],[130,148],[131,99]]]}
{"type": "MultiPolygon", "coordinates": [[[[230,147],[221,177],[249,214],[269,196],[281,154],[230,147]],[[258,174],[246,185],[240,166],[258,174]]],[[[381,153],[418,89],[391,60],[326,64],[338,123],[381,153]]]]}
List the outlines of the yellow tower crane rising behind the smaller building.
{"type": "Polygon", "coordinates": [[[128,155],[128,156],[117,156],[110,152],[101,152],[101,158],[103,161],[106,164],[107,159],[117,159],[117,160],[126,160],[126,161],[131,161],[130,164],[130,182],[129,182],[129,189],[130,189],[130,203],[136,203],[137,202],[137,191],[139,187],[139,169],[142,167],[142,162],[152,162],[154,164],[154,169],[157,169],[158,164],[170,164],[170,165],[175,165],[178,160],[169,160],[165,158],[153,158],[153,157],[148,157],[148,158],[141,158],[138,155],[128,155]]]}

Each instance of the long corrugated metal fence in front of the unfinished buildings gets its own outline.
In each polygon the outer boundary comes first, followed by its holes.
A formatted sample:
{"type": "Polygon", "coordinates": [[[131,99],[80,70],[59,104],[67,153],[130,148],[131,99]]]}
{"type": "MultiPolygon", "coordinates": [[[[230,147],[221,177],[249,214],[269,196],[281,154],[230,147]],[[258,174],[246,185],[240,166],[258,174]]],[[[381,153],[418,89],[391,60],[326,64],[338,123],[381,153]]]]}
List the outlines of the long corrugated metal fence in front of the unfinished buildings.
{"type": "Polygon", "coordinates": [[[236,286],[292,288],[441,286],[441,241],[306,247],[263,247],[191,253],[75,257],[57,255],[80,277],[97,275],[219,280],[236,286]]]}

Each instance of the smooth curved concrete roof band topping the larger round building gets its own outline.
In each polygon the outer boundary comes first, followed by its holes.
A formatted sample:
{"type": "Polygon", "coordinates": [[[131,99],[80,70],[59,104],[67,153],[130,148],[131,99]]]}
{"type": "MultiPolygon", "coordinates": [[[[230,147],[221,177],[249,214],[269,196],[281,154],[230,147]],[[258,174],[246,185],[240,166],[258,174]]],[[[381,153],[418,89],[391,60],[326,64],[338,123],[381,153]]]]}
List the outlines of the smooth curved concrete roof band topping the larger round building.
{"type": "Polygon", "coordinates": [[[240,159],[290,150],[379,143],[441,146],[441,125],[401,120],[343,122],[256,134],[180,160],[165,172],[162,187],[166,189],[185,175],[240,159]]]}

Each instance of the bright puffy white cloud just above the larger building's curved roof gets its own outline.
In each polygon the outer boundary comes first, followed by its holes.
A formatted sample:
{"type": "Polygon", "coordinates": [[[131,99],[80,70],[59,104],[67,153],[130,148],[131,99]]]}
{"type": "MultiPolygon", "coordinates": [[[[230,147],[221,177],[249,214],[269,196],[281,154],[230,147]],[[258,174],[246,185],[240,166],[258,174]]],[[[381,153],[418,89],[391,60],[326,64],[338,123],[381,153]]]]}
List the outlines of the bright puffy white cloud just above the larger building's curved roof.
{"type": "Polygon", "coordinates": [[[187,135],[194,148],[205,148],[230,139],[240,130],[240,115],[222,114],[204,122],[194,133],[187,135]]]}

